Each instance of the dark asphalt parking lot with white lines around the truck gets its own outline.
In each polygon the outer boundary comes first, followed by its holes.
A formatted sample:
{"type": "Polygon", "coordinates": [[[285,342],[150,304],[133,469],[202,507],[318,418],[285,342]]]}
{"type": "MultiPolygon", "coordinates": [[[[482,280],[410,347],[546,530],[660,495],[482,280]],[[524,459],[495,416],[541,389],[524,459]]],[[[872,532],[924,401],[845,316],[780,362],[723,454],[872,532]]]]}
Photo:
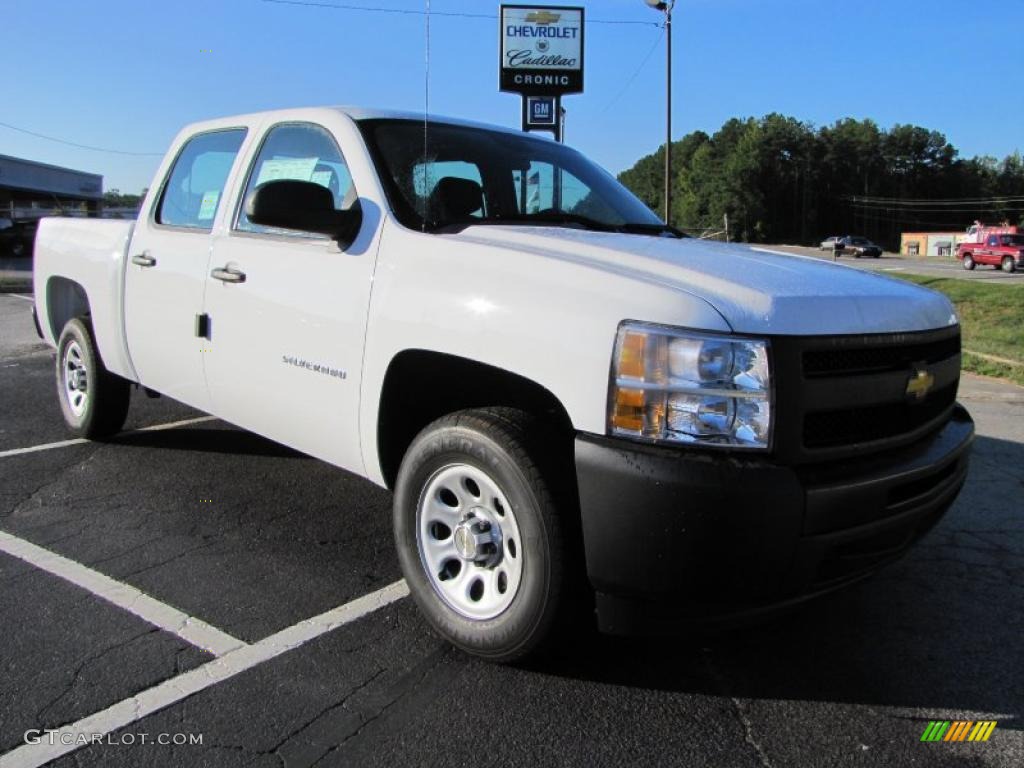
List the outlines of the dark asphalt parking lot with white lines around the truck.
{"type": "Polygon", "coordinates": [[[133,431],[47,447],[30,306],[0,295],[2,768],[1024,763],[1024,389],[965,381],[966,489],[876,578],[756,628],[497,667],[402,598],[390,495],[362,479],[141,395],[133,431]],[[934,720],[997,727],[922,742],[934,720]],[[116,727],[26,743],[72,726],[116,727]]]}

